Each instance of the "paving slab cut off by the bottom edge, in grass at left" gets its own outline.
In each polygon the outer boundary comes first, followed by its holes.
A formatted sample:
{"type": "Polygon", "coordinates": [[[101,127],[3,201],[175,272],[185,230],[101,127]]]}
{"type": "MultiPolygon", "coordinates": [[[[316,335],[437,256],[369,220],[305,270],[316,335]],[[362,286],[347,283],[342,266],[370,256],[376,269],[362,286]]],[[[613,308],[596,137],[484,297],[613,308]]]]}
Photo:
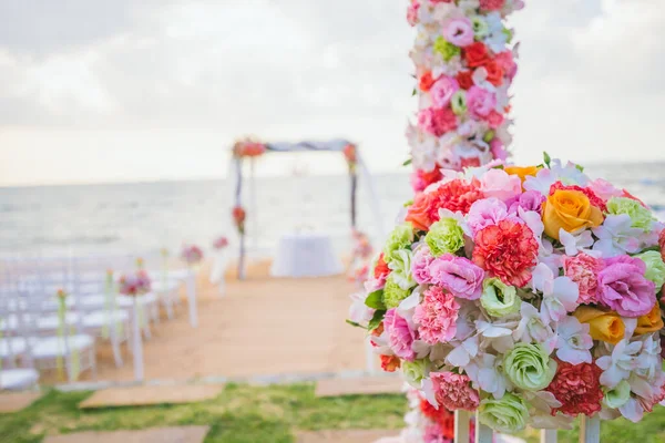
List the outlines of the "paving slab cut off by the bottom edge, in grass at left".
{"type": "Polygon", "coordinates": [[[182,426],[143,431],[79,432],[48,436],[44,443],[203,443],[208,431],[208,426],[182,426]]]}

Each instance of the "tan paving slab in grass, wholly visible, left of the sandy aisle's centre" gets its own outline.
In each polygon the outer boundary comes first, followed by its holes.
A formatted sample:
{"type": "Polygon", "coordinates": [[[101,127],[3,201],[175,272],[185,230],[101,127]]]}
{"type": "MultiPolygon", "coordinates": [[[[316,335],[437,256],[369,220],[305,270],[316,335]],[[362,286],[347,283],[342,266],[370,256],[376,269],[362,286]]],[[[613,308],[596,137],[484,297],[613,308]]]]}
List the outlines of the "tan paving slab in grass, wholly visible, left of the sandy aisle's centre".
{"type": "Polygon", "coordinates": [[[95,392],[90,398],[82,401],[79,404],[79,408],[94,409],[196,403],[215,399],[223,389],[223,384],[109,388],[95,392]]]}

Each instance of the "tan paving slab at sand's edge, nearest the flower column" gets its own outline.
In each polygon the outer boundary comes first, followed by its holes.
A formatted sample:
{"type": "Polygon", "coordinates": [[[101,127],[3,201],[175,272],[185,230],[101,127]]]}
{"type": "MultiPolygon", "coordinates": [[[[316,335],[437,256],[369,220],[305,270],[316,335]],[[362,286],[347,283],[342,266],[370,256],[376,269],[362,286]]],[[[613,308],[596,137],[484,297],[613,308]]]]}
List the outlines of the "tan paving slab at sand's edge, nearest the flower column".
{"type": "Polygon", "coordinates": [[[398,377],[329,379],[316,384],[316,396],[395,394],[402,392],[402,385],[398,377]]]}

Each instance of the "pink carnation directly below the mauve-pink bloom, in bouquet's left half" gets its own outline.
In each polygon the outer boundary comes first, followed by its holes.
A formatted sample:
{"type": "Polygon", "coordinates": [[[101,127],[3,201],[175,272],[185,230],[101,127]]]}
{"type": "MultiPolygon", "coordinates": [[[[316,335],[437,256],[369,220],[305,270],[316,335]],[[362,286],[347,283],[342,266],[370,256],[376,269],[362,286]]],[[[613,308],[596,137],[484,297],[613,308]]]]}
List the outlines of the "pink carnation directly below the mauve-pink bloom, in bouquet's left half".
{"type": "Polygon", "coordinates": [[[459,310],[460,306],[452,293],[443,292],[438,286],[426,290],[422,302],[416,307],[413,313],[413,321],[420,324],[420,338],[429,344],[452,340],[457,332],[459,310]]]}

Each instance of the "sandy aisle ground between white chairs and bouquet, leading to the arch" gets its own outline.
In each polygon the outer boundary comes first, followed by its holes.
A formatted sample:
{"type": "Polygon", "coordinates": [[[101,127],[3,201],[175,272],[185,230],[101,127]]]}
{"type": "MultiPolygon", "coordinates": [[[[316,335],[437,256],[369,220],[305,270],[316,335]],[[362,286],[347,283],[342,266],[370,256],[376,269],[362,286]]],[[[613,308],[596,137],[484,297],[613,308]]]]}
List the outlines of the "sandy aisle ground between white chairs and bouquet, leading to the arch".
{"type": "MultiPolygon", "coordinates": [[[[238,281],[227,270],[226,296],[208,281],[208,266],[198,272],[200,327],[188,323],[186,302],[176,318],[153,327],[144,342],[145,379],[184,381],[203,377],[252,378],[317,374],[365,368],[364,333],[345,323],[349,293],[345,276],[275,279],[269,262],[253,264],[238,281]]],[[[185,300],[184,288],[182,290],[185,300]]],[[[164,317],[165,318],[165,317],[164,317]]],[[[113,363],[108,344],[99,347],[98,381],[132,381],[132,357],[113,363]]],[[[81,377],[90,380],[90,373],[81,377]]],[[[42,383],[58,382],[44,374],[42,383]]]]}

